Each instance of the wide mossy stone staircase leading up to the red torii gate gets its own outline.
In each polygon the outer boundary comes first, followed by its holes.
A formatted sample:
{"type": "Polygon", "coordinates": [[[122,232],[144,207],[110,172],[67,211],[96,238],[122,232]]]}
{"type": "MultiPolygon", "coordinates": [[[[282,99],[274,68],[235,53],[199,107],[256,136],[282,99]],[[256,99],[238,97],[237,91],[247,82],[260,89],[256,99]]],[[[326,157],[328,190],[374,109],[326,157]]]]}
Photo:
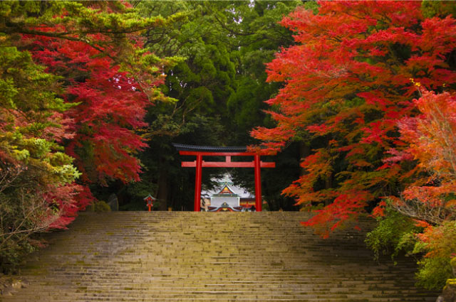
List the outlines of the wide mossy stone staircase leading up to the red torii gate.
{"type": "Polygon", "coordinates": [[[82,213],[48,234],[4,302],[435,301],[411,259],[373,261],[363,232],[321,239],[304,212],[82,213]]]}

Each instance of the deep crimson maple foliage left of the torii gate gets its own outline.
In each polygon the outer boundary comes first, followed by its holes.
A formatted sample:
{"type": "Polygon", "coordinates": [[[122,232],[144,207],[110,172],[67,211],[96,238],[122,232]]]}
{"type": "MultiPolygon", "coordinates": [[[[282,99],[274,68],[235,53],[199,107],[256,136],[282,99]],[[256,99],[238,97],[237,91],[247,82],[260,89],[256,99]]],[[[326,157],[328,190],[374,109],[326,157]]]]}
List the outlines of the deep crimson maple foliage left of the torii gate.
{"type": "Polygon", "coordinates": [[[66,150],[76,158],[82,179],[101,184],[110,179],[139,180],[134,153],[146,145],[135,130],[146,125],[143,117],[150,101],[138,83],[120,72],[112,58],[83,42],[28,38],[35,46],[33,58],[46,64],[49,72],[68,72],[66,99],[80,103],[66,112],[75,134],[66,150]]]}

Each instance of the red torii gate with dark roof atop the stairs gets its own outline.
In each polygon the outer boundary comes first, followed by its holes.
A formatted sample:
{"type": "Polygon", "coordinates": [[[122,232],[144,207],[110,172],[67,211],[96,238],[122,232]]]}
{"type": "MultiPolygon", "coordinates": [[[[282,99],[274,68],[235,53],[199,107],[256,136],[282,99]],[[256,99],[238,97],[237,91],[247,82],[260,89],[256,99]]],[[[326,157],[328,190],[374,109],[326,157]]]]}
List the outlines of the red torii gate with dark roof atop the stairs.
{"type": "Polygon", "coordinates": [[[260,161],[261,153],[247,152],[247,147],[213,147],[173,144],[180,155],[196,156],[196,161],[182,161],[182,167],[195,167],[195,205],[194,211],[201,210],[202,168],[254,168],[255,171],[255,209],[261,212],[261,173],[260,168],[275,168],[276,163],[260,161]],[[203,161],[203,156],[225,156],[225,161],[203,161]],[[232,156],[254,156],[254,161],[231,161],[232,156]]]}

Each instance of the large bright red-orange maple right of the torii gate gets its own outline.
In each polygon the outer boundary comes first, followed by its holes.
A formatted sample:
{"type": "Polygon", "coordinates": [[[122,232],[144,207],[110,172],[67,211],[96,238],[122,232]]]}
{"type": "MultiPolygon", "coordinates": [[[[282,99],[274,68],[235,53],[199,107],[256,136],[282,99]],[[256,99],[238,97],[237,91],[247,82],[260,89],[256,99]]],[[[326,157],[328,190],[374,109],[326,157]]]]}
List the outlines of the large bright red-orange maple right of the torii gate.
{"type": "Polygon", "coordinates": [[[424,18],[418,1],[318,4],[318,14],[300,7],[281,21],[296,45],[267,65],[268,80],[284,82],[267,101],[276,127],[252,136],[270,151],[303,131],[311,136],[317,147],[301,163],[306,173],[284,194],[303,206],[325,203],[305,224],[327,235],[408,181],[407,167],[383,158],[403,144],[398,121],[416,114],[410,79],[432,90],[456,82],[447,62],[456,21],[424,18]]]}

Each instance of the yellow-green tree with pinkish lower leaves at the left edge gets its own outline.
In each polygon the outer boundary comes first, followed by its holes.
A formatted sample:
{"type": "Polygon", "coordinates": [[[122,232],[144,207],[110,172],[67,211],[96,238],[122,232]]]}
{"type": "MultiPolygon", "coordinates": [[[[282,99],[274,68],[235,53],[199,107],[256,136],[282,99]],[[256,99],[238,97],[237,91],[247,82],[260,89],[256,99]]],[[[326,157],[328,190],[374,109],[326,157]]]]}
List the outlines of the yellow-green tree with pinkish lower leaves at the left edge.
{"type": "Polygon", "coordinates": [[[0,269],[38,246],[33,234],[64,227],[78,204],[80,176],[61,141],[71,136],[58,77],[31,55],[0,46],[0,269]],[[52,192],[52,193],[50,193],[52,192]]]}

